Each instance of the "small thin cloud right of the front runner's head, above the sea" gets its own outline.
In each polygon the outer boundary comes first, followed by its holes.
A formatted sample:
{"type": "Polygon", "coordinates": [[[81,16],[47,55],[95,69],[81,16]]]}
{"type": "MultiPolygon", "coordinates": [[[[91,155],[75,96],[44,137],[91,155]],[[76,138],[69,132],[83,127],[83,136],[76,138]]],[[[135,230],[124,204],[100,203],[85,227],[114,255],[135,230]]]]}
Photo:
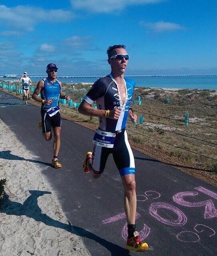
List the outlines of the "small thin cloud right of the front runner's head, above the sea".
{"type": "Polygon", "coordinates": [[[151,23],[151,22],[145,22],[144,20],[141,20],[139,24],[153,30],[154,32],[165,32],[165,31],[186,29],[186,27],[181,26],[177,23],[171,23],[171,22],[165,22],[165,21],[157,21],[157,22],[151,23]]]}

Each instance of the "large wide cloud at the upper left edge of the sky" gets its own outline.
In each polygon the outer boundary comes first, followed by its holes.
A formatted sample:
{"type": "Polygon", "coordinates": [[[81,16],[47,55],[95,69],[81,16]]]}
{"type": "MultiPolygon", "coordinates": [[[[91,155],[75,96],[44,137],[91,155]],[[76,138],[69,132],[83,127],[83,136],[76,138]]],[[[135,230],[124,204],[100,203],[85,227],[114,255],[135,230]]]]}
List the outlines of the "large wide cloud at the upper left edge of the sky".
{"type": "Polygon", "coordinates": [[[38,7],[0,5],[0,24],[7,26],[12,31],[3,31],[4,36],[23,34],[34,30],[40,22],[66,22],[75,15],[71,11],[62,9],[44,10],[38,7]]]}

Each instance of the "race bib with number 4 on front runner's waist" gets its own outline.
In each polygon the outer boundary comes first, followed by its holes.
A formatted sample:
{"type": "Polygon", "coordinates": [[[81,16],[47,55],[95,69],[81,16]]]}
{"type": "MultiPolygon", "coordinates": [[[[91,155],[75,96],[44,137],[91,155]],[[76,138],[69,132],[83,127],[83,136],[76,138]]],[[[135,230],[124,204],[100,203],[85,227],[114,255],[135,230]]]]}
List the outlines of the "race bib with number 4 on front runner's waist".
{"type": "Polygon", "coordinates": [[[113,132],[104,132],[98,129],[94,134],[93,143],[97,146],[113,148],[115,136],[116,134],[113,132]]]}

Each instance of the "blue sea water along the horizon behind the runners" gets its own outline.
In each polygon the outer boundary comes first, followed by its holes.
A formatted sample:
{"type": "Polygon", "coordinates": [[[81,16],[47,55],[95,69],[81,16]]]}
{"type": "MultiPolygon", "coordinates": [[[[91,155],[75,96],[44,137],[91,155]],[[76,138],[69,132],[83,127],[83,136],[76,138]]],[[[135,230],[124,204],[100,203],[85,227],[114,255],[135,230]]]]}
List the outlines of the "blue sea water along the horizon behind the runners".
{"type": "MultiPolygon", "coordinates": [[[[30,76],[31,77],[31,76],[30,76]]],[[[94,83],[96,78],[58,78],[63,83],[94,83]]],[[[135,86],[180,89],[214,89],[217,90],[217,76],[203,77],[133,77],[135,86]]],[[[33,78],[32,81],[39,81],[33,78]]]]}

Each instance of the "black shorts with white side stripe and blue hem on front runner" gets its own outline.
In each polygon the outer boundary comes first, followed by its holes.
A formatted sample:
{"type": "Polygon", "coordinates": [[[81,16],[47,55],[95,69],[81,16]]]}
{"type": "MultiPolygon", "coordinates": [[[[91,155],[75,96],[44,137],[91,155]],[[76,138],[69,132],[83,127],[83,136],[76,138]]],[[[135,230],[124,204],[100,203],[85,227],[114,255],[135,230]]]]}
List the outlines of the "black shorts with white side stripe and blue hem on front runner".
{"type": "Polygon", "coordinates": [[[111,153],[121,176],[135,174],[133,152],[125,130],[116,134],[113,148],[106,148],[94,144],[92,154],[92,170],[94,173],[102,173],[104,171],[106,161],[111,153]]]}

